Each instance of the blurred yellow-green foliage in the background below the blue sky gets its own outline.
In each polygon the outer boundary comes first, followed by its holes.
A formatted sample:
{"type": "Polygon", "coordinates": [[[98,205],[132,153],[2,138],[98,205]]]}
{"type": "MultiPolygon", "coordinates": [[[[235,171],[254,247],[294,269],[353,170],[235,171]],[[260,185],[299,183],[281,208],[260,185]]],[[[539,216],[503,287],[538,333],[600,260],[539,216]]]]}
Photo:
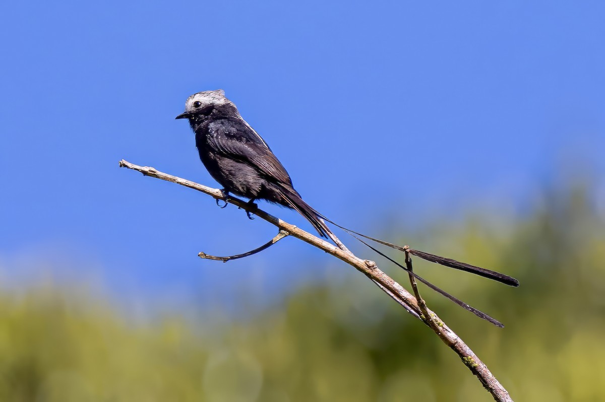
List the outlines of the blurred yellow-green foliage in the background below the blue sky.
{"type": "MultiPolygon", "coordinates": [[[[591,200],[581,187],[553,190],[523,218],[439,222],[414,243],[520,280],[507,288],[416,264],[505,323],[495,328],[422,290],[514,400],[605,400],[605,233],[591,200]]],[[[178,315],[132,322],[82,289],[2,290],[0,400],[491,400],[430,329],[365,277],[348,277],[229,325],[178,315]]]]}

